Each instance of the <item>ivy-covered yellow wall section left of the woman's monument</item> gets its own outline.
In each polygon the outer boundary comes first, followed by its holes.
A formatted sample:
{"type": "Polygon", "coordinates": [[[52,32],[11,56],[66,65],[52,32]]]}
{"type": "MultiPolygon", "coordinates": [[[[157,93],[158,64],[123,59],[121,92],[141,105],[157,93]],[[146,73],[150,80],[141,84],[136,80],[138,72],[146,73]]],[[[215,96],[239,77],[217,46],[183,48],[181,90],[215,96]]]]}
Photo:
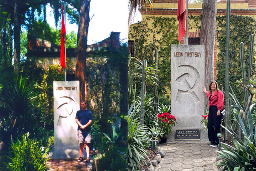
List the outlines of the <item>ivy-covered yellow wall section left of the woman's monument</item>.
{"type": "MultiPolygon", "coordinates": [[[[168,94],[171,91],[171,44],[179,44],[175,24],[176,18],[169,17],[146,17],[142,22],[130,28],[128,39],[135,41],[135,58],[146,59],[148,65],[154,64],[154,49],[159,50],[159,92],[160,95],[168,94]]],[[[140,90],[141,85],[137,85],[140,90]]],[[[152,93],[153,87],[149,86],[147,92],[152,93]]],[[[139,92],[137,92],[139,93],[139,92]]]]}

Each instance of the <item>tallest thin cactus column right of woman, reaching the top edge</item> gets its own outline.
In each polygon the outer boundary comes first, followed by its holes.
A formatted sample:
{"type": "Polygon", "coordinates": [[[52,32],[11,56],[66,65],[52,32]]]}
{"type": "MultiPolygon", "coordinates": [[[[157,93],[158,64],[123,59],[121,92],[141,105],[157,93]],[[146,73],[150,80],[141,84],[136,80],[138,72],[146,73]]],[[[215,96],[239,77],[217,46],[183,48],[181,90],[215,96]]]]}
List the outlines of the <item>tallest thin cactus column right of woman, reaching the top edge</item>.
{"type": "MultiPolygon", "coordinates": [[[[226,106],[229,106],[229,32],[230,32],[230,0],[226,1],[226,57],[225,57],[225,96],[226,106]]],[[[231,126],[231,114],[229,107],[226,108],[226,128],[231,126]]],[[[224,140],[231,141],[231,135],[224,132],[224,140]]]]}

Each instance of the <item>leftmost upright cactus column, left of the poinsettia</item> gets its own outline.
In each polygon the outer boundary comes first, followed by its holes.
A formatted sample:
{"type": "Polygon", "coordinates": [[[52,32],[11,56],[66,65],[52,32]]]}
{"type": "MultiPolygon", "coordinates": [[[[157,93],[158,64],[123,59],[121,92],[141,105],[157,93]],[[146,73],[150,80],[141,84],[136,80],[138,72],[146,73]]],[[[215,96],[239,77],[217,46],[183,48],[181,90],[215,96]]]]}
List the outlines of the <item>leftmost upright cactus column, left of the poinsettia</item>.
{"type": "Polygon", "coordinates": [[[140,125],[144,124],[144,112],[145,112],[145,76],[146,76],[146,60],[142,62],[142,87],[141,87],[141,108],[140,108],[140,125]]]}

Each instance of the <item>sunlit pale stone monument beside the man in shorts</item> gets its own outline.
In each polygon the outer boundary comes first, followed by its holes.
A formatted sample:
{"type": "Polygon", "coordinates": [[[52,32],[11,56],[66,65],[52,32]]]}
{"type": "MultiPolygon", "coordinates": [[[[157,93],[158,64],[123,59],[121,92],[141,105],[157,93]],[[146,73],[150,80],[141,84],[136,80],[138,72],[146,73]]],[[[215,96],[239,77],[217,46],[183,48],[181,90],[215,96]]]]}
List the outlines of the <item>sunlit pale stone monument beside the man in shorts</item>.
{"type": "MultiPolygon", "coordinates": [[[[79,157],[76,112],[80,109],[79,81],[53,81],[54,147],[47,157],[79,157]]],[[[85,151],[85,150],[84,150],[85,151]]]]}

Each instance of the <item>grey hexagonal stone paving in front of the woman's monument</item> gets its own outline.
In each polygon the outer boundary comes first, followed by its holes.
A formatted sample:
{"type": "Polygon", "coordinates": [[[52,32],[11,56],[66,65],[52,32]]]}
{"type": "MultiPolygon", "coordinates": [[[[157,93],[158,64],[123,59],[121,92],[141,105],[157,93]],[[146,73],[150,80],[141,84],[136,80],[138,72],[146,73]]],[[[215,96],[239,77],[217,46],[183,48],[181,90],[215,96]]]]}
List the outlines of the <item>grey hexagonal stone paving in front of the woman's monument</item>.
{"type": "Polygon", "coordinates": [[[155,171],[218,171],[216,150],[210,143],[158,144],[165,157],[155,171]]]}

